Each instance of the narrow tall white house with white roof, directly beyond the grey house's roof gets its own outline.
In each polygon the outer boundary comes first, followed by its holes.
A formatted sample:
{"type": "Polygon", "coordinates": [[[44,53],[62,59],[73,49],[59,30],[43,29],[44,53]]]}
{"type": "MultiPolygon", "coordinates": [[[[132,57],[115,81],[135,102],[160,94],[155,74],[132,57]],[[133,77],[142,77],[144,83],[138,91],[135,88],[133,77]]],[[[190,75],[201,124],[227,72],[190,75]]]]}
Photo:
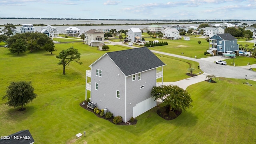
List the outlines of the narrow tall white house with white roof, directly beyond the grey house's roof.
{"type": "Polygon", "coordinates": [[[141,42],[142,32],[139,28],[130,28],[126,32],[126,40],[131,42],[141,42]]]}

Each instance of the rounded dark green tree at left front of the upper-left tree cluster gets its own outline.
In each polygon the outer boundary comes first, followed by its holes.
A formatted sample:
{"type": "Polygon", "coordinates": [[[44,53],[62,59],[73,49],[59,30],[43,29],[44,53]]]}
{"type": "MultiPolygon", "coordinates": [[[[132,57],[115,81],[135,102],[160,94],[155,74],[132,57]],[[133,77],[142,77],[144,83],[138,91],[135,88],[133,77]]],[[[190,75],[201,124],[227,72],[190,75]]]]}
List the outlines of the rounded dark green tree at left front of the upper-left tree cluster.
{"type": "Polygon", "coordinates": [[[12,45],[8,45],[8,49],[11,53],[26,52],[27,51],[27,43],[23,39],[17,39],[12,45]]]}

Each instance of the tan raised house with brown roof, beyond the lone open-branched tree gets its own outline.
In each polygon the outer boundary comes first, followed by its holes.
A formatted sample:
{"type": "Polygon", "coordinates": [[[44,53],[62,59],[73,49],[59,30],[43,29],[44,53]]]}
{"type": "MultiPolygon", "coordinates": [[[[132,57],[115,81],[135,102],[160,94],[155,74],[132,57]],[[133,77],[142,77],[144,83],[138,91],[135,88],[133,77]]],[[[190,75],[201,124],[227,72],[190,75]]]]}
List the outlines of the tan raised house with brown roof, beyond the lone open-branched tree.
{"type": "Polygon", "coordinates": [[[84,34],[85,44],[89,46],[99,46],[99,44],[104,44],[104,32],[101,30],[88,30],[84,34]]]}

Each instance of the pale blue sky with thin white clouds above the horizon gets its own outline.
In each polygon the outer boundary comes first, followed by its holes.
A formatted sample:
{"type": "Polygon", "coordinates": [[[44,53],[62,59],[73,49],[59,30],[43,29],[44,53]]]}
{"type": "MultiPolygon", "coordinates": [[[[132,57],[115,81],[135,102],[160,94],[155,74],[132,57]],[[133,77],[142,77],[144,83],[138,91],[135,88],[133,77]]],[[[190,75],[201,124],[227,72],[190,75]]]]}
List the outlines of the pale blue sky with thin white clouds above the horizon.
{"type": "Polygon", "coordinates": [[[256,0],[0,0],[0,17],[256,20],[256,0]]]}

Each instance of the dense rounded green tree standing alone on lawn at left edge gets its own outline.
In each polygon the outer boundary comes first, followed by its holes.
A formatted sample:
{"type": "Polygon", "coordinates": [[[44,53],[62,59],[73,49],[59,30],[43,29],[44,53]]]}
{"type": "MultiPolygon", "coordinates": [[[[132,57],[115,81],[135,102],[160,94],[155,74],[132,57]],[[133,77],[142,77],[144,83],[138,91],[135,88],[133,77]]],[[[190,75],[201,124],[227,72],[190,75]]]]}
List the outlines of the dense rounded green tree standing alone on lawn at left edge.
{"type": "Polygon", "coordinates": [[[6,95],[2,99],[7,99],[6,104],[10,107],[21,106],[23,109],[23,106],[34,100],[36,96],[31,82],[19,81],[10,83],[7,87],[6,95]]]}

